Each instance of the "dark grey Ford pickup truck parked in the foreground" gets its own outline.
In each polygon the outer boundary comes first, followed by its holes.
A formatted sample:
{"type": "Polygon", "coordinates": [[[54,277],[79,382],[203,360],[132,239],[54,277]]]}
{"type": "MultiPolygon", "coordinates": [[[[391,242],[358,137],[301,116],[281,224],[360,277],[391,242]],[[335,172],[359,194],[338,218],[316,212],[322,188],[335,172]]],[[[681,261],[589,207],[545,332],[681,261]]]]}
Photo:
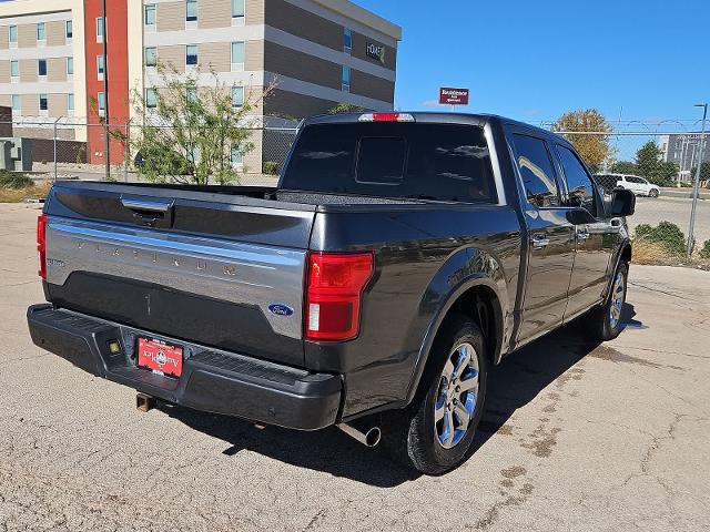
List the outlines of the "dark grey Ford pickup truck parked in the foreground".
{"type": "Polygon", "coordinates": [[[511,120],[317,116],[276,188],[58,182],[29,327],[144,400],[382,436],[439,474],[506,355],[576,318],[619,334],[633,209],[511,120]]]}

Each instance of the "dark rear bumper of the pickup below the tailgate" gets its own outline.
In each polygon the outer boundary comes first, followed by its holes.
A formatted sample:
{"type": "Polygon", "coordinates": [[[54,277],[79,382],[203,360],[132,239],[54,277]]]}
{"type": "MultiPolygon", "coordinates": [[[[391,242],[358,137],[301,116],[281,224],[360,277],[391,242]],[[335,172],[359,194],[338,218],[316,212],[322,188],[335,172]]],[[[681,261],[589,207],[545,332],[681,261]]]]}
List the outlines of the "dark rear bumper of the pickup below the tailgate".
{"type": "Polygon", "coordinates": [[[74,366],[165,401],[265,424],[317,430],[335,424],[341,377],[265,362],[78,314],[36,305],[28,309],[32,341],[74,366]],[[139,337],[183,347],[180,379],[135,366],[139,337]],[[118,341],[112,355],[109,344],[118,341]]]}

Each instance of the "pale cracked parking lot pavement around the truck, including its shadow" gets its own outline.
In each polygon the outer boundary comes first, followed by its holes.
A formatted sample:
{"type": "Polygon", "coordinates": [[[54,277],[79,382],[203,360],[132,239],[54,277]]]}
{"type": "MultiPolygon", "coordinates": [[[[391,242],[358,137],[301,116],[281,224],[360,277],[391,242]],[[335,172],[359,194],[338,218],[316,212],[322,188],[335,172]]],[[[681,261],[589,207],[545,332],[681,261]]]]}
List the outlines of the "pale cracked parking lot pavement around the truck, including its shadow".
{"type": "Polygon", "coordinates": [[[710,273],[632,266],[620,338],[509,357],[476,454],[425,478],[336,429],[139,413],[34,347],[37,214],[0,205],[0,531],[708,528],[710,273]]]}

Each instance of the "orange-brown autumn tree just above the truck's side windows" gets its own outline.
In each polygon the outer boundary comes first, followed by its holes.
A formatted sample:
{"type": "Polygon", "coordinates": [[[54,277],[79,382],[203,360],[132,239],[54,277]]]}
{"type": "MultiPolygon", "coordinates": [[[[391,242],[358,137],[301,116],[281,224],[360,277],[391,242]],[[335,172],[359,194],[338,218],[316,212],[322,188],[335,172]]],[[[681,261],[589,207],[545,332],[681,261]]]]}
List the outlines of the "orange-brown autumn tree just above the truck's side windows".
{"type": "Polygon", "coordinates": [[[598,135],[566,135],[592,172],[599,171],[601,164],[611,155],[609,133],[611,126],[607,119],[596,109],[570,111],[552,124],[554,131],[595,132],[598,135]]]}

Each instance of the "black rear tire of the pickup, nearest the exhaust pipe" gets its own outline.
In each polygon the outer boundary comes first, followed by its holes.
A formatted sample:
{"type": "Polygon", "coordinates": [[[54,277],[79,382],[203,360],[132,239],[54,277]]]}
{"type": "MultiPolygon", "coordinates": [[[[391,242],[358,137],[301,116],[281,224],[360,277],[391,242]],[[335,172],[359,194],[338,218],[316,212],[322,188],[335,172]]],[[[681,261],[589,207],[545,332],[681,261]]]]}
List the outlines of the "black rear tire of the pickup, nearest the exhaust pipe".
{"type": "Polygon", "coordinates": [[[462,315],[448,317],[432,347],[429,362],[413,403],[405,410],[383,415],[383,446],[405,467],[437,475],[469,457],[484,411],[488,352],[478,326],[462,315]],[[454,361],[465,361],[466,352],[470,362],[455,380],[454,361]],[[477,379],[473,377],[476,371],[477,379]],[[473,387],[474,380],[476,388],[459,391],[462,386],[457,385],[473,387]],[[464,429],[466,415],[468,423],[464,429]]]}

